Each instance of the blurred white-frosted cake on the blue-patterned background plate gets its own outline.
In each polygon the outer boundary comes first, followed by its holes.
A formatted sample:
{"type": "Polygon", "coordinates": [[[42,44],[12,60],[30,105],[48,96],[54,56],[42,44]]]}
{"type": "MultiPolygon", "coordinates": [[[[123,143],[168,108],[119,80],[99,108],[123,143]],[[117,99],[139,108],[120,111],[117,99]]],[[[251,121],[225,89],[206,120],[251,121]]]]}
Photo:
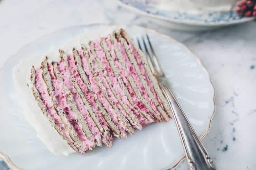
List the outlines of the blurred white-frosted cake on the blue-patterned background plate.
{"type": "Polygon", "coordinates": [[[230,11],[238,0],[161,0],[158,8],[191,14],[230,11]]]}

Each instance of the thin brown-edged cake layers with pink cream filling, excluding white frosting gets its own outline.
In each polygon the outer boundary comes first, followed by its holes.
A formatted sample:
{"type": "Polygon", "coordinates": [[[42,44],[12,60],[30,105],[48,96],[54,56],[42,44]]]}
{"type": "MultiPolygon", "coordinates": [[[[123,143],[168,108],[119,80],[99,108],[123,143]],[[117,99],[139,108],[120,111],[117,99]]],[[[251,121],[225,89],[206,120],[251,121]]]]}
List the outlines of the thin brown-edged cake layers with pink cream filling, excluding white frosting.
{"type": "Polygon", "coordinates": [[[171,111],[144,54],[124,30],[31,69],[38,106],[76,152],[112,145],[112,135],[168,121],[171,111]]]}

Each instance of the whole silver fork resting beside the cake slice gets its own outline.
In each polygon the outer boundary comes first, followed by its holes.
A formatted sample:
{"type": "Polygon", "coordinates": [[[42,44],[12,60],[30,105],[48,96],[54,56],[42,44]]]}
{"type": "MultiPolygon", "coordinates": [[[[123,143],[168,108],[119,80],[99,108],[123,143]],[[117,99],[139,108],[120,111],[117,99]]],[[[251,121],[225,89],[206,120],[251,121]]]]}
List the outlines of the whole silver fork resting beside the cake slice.
{"type": "Polygon", "coordinates": [[[191,170],[215,170],[216,167],[213,164],[209,154],[205,150],[203,144],[200,142],[194,129],[192,128],[188,118],[183,112],[180,104],[177,102],[172,91],[165,85],[164,80],[166,80],[164,72],[162,71],[152,44],[149,40],[148,34],[142,36],[142,42],[137,37],[137,43],[139,48],[145,52],[146,58],[148,60],[149,67],[151,68],[154,76],[157,78],[160,87],[162,88],[165,97],[167,98],[171,110],[173,112],[173,117],[180,134],[180,138],[183,144],[183,149],[191,170]],[[143,46],[142,46],[143,44],[143,46]],[[144,47],[144,50],[143,48],[144,47]]]}

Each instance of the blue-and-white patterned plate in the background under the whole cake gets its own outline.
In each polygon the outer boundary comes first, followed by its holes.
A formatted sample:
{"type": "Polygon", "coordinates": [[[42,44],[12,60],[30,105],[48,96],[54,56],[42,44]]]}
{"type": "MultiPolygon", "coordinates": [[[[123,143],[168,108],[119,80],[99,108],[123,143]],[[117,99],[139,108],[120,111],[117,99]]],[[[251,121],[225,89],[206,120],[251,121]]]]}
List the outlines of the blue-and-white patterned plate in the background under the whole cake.
{"type": "Polygon", "coordinates": [[[159,1],[153,0],[117,0],[117,2],[131,11],[155,19],[158,24],[179,30],[209,30],[253,20],[253,17],[240,17],[235,10],[194,14],[161,9],[157,5],[159,1]]]}

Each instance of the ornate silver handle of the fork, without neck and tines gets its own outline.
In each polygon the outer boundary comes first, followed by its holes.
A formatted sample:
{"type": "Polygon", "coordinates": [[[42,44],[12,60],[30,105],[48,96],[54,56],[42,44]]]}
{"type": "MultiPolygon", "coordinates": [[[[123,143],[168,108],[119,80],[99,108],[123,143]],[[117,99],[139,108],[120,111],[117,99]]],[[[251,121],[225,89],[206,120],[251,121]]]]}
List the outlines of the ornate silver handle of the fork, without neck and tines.
{"type": "Polygon", "coordinates": [[[216,170],[213,161],[196,136],[194,129],[171,90],[164,83],[160,83],[160,86],[173,112],[189,168],[191,170],[216,170]]]}

